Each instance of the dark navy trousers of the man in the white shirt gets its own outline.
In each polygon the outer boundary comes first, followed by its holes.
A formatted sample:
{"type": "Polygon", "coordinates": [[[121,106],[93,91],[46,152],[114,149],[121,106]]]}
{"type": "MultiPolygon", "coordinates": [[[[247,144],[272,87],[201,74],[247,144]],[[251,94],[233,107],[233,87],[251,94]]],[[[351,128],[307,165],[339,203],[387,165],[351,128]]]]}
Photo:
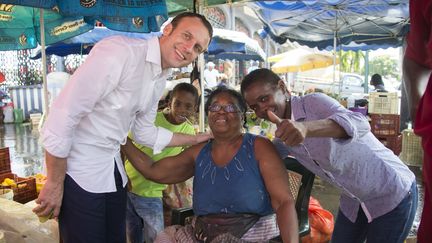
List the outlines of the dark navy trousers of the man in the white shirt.
{"type": "Polygon", "coordinates": [[[126,242],[126,189],[117,166],[114,176],[116,192],[91,193],[66,175],[59,215],[64,243],[126,242]]]}

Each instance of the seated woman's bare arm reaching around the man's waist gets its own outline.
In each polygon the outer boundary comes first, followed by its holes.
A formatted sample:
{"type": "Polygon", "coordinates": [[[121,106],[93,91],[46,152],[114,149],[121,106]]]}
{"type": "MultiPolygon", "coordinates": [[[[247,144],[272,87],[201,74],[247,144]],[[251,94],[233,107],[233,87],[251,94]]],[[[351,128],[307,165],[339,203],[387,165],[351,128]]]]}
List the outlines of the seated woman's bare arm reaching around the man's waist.
{"type": "Polygon", "coordinates": [[[174,184],[191,178],[194,174],[195,156],[199,146],[190,147],[180,154],[166,157],[154,163],[140,151],[129,138],[121,151],[146,179],[163,184],[174,184]]]}

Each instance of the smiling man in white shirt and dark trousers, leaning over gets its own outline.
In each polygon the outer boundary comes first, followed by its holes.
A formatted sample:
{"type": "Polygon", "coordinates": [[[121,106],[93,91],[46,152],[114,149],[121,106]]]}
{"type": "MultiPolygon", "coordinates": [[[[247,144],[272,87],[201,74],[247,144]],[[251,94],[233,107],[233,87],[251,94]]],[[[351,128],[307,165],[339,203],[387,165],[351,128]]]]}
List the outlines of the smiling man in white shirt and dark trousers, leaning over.
{"type": "Polygon", "coordinates": [[[100,41],[72,75],[42,129],[48,178],[33,210],[58,217],[63,242],[126,242],[127,177],[119,151],[129,129],[155,152],[208,140],[208,134],[173,134],[154,120],[170,68],[196,59],[212,32],[202,15],[182,13],[161,37],[100,41]]]}

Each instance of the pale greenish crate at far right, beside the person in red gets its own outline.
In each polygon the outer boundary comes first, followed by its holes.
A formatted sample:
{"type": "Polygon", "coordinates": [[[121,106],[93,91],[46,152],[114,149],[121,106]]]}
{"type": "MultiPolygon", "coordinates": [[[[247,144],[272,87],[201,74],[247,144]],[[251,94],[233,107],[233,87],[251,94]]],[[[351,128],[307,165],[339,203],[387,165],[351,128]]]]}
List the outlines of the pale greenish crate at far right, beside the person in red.
{"type": "Polygon", "coordinates": [[[402,151],[400,159],[407,165],[421,166],[423,164],[423,148],[421,138],[412,129],[402,131],[402,151]]]}

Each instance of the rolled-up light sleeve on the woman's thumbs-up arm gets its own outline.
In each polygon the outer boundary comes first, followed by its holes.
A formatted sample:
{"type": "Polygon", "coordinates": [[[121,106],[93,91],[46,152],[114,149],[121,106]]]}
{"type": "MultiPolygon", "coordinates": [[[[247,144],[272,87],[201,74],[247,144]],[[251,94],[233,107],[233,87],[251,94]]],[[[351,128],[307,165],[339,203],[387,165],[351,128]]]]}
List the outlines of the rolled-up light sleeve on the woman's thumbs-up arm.
{"type": "Polygon", "coordinates": [[[363,114],[347,110],[339,102],[324,94],[317,93],[311,95],[309,99],[313,99],[309,100],[309,102],[315,104],[313,106],[314,112],[320,116],[320,119],[335,121],[350,137],[348,139],[336,138],[334,139],[336,142],[350,143],[370,132],[369,122],[363,114]]]}

